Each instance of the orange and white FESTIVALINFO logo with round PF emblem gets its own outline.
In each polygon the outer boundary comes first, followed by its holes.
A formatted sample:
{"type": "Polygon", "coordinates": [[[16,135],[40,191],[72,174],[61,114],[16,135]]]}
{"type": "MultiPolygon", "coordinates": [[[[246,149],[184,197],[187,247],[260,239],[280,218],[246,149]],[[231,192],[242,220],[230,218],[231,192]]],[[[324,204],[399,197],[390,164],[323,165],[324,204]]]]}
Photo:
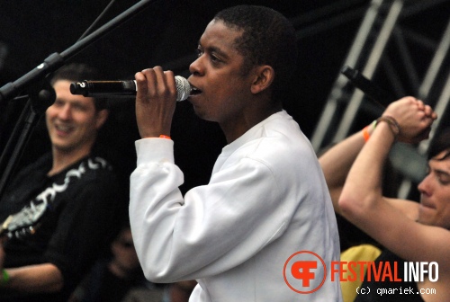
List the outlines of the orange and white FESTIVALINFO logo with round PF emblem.
{"type": "Polygon", "coordinates": [[[317,253],[300,251],[293,253],[284,263],[284,281],[299,294],[311,294],[320,289],[329,278],[332,282],[360,281],[367,272],[367,280],[375,282],[408,282],[439,279],[437,262],[340,262],[326,263],[317,253]],[[399,275],[399,265],[403,265],[403,274],[399,275]],[[330,276],[327,276],[329,271],[330,276]]]}

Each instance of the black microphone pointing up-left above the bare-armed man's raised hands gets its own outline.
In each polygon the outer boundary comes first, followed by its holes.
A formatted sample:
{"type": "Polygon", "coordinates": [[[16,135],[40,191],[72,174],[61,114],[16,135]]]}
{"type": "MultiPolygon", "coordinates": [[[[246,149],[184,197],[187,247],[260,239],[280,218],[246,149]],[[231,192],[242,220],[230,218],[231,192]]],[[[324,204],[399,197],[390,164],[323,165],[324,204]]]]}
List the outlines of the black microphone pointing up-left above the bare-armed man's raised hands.
{"type": "Polygon", "coordinates": [[[390,103],[396,101],[391,94],[384,91],[382,88],[378,87],[372,83],[368,78],[363,76],[359,71],[351,67],[342,67],[341,73],[359,88],[365,95],[367,95],[372,101],[378,103],[383,108],[387,107],[390,103]]]}

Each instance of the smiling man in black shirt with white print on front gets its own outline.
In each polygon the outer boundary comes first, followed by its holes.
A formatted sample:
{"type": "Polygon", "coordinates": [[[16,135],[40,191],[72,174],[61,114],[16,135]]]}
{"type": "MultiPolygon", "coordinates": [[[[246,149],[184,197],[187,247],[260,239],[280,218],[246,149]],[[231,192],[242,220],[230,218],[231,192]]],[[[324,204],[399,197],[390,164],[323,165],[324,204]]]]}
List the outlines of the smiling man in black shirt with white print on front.
{"type": "Polygon", "coordinates": [[[84,65],[54,75],[56,100],[46,111],[51,153],[18,173],[0,202],[2,221],[10,217],[10,238],[0,247],[2,301],[67,300],[117,228],[120,184],[92,151],[108,111],[104,101],[69,91],[93,76],[84,65]]]}

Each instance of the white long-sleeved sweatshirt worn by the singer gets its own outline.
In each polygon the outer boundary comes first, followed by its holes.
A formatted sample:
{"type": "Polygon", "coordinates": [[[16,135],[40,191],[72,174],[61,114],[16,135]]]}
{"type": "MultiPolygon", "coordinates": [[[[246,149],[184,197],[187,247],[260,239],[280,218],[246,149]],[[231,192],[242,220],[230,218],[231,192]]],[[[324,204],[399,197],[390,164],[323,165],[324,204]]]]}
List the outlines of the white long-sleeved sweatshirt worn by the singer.
{"type": "MultiPolygon", "coordinates": [[[[339,260],[329,191],[310,142],[285,111],[224,147],[209,184],[184,198],[173,141],[140,139],[136,150],[130,224],[148,280],[197,280],[190,301],[342,300],[339,282],[329,278],[330,262],[339,260]],[[300,280],[291,264],[284,268],[301,251],[327,264],[324,284],[311,294],[294,291],[303,289],[293,283],[300,280]]],[[[322,280],[315,272],[311,289],[322,280]]]]}

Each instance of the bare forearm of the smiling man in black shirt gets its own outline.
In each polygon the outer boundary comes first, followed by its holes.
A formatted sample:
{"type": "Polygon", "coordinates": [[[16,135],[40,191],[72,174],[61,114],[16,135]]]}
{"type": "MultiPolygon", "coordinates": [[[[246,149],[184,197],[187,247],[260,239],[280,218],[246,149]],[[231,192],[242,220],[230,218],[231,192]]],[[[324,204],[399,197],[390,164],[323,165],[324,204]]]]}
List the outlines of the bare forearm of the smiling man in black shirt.
{"type": "Polygon", "coordinates": [[[64,280],[58,268],[51,263],[5,269],[9,280],[2,285],[11,292],[54,292],[62,288],[64,280]]]}

